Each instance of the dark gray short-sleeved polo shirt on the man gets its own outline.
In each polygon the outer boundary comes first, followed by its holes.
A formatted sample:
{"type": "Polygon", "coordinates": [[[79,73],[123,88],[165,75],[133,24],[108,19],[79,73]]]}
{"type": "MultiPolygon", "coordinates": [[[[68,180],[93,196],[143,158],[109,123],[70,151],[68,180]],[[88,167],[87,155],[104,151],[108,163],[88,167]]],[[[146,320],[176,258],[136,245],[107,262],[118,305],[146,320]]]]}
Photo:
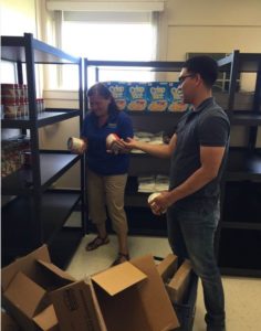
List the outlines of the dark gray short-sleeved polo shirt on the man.
{"type": "Polygon", "coordinates": [[[212,97],[208,98],[181,117],[176,134],[177,146],[170,163],[170,190],[181,184],[200,168],[200,146],[227,147],[218,177],[199,191],[176,203],[186,207],[195,203],[211,207],[219,197],[219,182],[228,154],[230,134],[228,116],[212,97]]]}

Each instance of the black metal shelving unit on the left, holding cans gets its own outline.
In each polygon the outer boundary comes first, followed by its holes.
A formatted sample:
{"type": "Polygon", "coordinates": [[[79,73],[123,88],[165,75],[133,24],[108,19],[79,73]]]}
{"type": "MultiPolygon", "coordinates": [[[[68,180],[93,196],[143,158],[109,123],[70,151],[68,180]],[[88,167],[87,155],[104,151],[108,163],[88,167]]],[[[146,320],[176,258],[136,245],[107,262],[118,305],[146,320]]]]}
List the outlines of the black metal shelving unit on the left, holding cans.
{"type": "MultiPolygon", "coordinates": [[[[11,196],[2,206],[2,264],[46,243],[52,260],[60,267],[70,261],[84,235],[84,160],[63,150],[41,150],[41,127],[77,117],[83,120],[82,58],[71,56],[35,40],[32,34],[1,36],[1,58],[12,62],[17,71],[14,83],[28,85],[29,116],[1,119],[3,130],[30,132],[32,164],[2,179],[2,195],[11,196]],[[36,111],[35,66],[38,64],[74,65],[79,73],[79,107],[36,111]],[[25,73],[25,77],[24,77],[25,73]],[[80,190],[55,190],[52,184],[75,163],[81,164],[80,190]],[[80,227],[66,227],[65,222],[75,206],[81,205],[80,227]]],[[[70,135],[70,134],[69,134],[70,135]]]]}

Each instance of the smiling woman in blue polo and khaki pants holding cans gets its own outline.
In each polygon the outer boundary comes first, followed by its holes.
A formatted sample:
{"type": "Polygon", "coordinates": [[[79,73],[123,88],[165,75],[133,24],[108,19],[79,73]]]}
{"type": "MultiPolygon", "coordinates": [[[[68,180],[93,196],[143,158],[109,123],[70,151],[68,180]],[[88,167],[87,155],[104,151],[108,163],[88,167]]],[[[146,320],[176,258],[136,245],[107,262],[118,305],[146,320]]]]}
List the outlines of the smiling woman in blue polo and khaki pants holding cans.
{"type": "Polygon", "coordinates": [[[127,218],[124,210],[124,193],[127,182],[129,154],[121,140],[116,141],[119,152],[108,151],[106,138],[111,134],[121,139],[133,137],[130,118],[118,110],[109,89],[101,83],[87,92],[90,113],[83,122],[82,139],[86,152],[86,189],[92,222],[97,236],[86,245],[93,250],[109,242],[106,232],[106,207],[113,229],[117,234],[118,256],[113,265],[129,259],[127,245],[127,218]]]}

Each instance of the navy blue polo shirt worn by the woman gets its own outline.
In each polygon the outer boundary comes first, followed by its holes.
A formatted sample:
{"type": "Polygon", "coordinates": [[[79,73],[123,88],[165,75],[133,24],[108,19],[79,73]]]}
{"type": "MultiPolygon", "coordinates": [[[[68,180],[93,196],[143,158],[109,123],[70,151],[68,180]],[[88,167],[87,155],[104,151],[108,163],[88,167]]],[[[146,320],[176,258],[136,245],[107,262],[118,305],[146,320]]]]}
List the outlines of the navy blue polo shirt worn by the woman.
{"type": "Polygon", "coordinates": [[[98,127],[98,119],[92,111],[86,115],[82,137],[87,139],[87,167],[101,175],[126,173],[129,154],[114,154],[106,151],[106,137],[109,134],[116,134],[123,139],[133,137],[132,120],[126,113],[115,110],[102,127],[98,127]]]}

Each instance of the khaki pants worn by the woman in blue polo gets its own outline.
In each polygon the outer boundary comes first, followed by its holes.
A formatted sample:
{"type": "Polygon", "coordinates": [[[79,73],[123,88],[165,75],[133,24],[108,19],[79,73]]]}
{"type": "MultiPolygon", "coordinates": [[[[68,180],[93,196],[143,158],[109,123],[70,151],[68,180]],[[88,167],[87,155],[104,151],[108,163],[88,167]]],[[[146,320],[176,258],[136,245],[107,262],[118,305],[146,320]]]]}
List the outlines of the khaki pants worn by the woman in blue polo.
{"type": "Polygon", "coordinates": [[[116,234],[127,234],[128,225],[124,210],[124,192],[127,173],[98,175],[87,169],[87,202],[90,217],[94,224],[104,224],[108,216],[116,234]]]}

